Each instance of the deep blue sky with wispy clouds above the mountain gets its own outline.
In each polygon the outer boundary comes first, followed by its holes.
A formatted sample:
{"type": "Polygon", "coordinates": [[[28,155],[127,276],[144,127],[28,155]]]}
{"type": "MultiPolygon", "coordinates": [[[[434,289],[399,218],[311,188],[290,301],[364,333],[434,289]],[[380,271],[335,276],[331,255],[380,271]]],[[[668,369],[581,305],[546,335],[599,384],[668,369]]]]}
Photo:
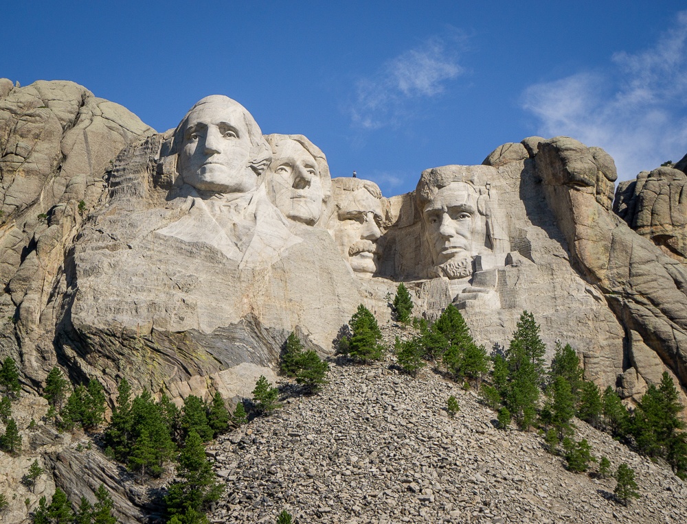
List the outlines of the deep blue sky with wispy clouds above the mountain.
{"type": "Polygon", "coordinates": [[[333,176],[414,189],[526,136],[605,148],[619,179],[687,153],[684,1],[3,5],[0,76],[73,80],[153,128],[201,97],[300,133],[333,176]]]}

